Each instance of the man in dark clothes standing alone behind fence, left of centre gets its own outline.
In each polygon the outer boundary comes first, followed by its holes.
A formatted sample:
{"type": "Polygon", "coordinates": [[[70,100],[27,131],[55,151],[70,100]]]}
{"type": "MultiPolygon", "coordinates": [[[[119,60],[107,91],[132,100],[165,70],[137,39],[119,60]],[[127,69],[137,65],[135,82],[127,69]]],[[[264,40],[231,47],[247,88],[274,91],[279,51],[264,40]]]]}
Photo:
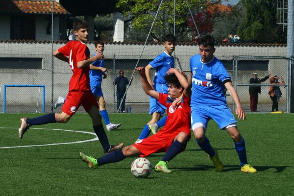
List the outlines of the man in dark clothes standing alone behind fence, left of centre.
{"type": "MultiPolygon", "coordinates": [[[[132,80],[130,81],[131,85],[132,80]]],[[[125,97],[123,98],[123,95],[126,91],[126,86],[128,85],[129,81],[126,77],[124,77],[124,72],[123,70],[120,71],[120,76],[115,78],[114,84],[117,85],[117,107],[118,107],[118,112],[125,113],[125,97]],[[119,107],[121,105],[121,109],[119,111],[119,107]]]]}

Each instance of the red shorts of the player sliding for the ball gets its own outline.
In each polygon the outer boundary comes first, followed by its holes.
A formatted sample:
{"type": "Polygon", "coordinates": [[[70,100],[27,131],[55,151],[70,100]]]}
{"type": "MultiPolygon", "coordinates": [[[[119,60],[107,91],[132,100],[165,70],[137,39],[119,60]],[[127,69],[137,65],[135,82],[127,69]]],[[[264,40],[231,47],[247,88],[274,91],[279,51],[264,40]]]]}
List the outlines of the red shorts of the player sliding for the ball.
{"type": "MultiPolygon", "coordinates": [[[[160,132],[133,144],[133,146],[141,152],[139,156],[145,157],[155,152],[166,152],[168,148],[172,145],[174,138],[178,134],[178,132],[176,132],[175,135],[159,133],[160,132]]],[[[185,150],[185,148],[183,150],[185,150]]]]}

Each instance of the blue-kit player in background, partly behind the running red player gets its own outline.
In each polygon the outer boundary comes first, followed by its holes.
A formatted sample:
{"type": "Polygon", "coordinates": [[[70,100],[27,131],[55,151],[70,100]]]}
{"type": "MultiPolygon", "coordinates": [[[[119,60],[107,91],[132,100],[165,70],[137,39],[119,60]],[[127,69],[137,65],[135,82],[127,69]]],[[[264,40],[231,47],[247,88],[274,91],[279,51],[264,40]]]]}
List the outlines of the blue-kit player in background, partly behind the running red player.
{"type": "MultiPolygon", "coordinates": [[[[94,44],[95,44],[96,52],[103,53],[104,43],[102,41],[96,41],[94,44]]],[[[101,89],[102,77],[104,79],[107,77],[105,72],[107,72],[107,69],[105,68],[104,60],[97,60],[93,62],[92,64],[90,64],[89,76],[90,76],[91,91],[95,95],[96,100],[99,104],[100,114],[106,124],[106,129],[110,131],[110,130],[117,129],[118,127],[121,126],[121,124],[110,123],[109,116],[106,111],[106,103],[105,103],[105,99],[103,97],[103,93],[101,89]]]]}

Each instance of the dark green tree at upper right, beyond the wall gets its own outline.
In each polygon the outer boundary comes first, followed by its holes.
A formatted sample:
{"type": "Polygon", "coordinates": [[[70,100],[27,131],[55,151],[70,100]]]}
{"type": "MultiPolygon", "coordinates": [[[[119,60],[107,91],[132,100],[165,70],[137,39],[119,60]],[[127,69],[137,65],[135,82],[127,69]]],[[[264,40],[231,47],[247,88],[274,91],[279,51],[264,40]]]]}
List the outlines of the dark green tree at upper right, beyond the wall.
{"type": "Polygon", "coordinates": [[[245,9],[244,22],[238,34],[256,43],[286,43],[283,27],[276,24],[276,0],[241,0],[245,9]]]}

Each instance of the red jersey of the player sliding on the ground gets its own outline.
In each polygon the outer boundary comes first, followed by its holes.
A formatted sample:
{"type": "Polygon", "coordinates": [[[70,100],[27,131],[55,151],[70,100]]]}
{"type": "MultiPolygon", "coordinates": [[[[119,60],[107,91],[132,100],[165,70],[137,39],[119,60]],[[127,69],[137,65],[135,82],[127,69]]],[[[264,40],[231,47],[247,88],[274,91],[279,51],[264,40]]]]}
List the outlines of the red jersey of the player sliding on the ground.
{"type": "MultiPolygon", "coordinates": [[[[183,96],[182,102],[175,109],[172,107],[173,99],[167,94],[159,94],[159,102],[167,107],[168,119],[159,134],[170,134],[173,132],[186,132],[190,135],[191,131],[191,98],[183,96]]],[[[157,134],[158,134],[157,133],[157,134]]]]}

